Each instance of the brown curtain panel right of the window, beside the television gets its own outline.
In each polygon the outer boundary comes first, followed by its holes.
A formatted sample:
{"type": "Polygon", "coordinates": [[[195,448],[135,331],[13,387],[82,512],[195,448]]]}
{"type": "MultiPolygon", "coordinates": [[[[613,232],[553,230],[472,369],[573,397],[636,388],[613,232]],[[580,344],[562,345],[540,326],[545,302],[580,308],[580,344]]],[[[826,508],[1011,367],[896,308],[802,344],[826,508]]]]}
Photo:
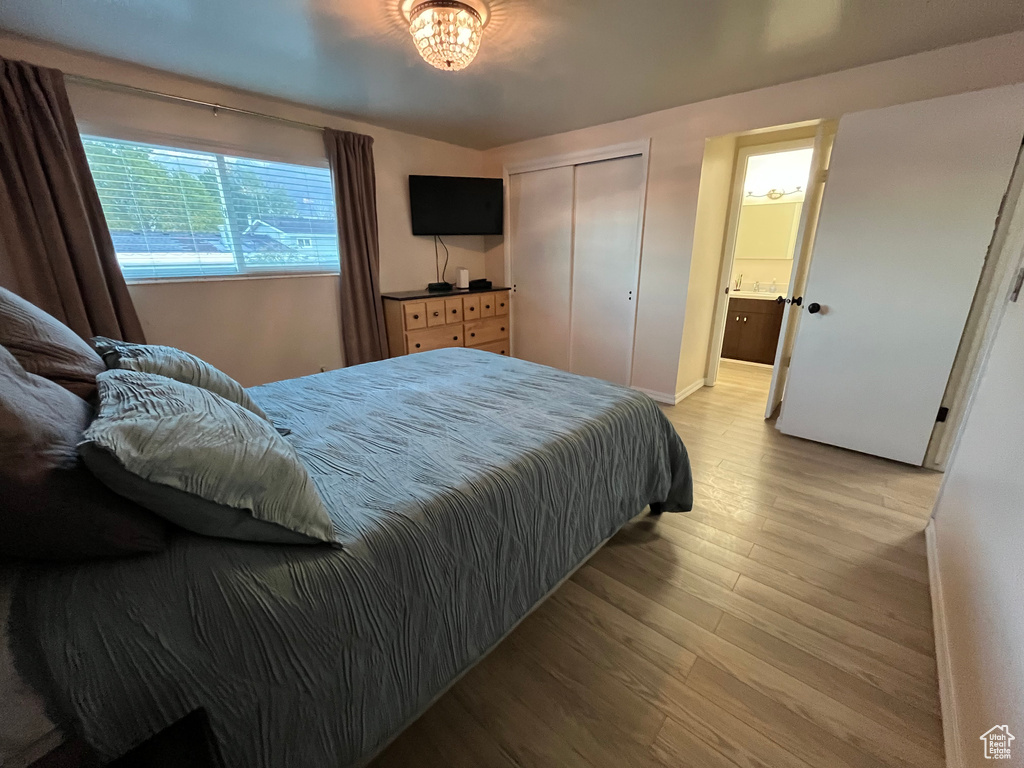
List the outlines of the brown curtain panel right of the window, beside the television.
{"type": "Polygon", "coordinates": [[[382,360],[387,357],[387,333],[380,289],[374,140],[327,128],[324,141],[338,207],[345,365],[382,360]]]}

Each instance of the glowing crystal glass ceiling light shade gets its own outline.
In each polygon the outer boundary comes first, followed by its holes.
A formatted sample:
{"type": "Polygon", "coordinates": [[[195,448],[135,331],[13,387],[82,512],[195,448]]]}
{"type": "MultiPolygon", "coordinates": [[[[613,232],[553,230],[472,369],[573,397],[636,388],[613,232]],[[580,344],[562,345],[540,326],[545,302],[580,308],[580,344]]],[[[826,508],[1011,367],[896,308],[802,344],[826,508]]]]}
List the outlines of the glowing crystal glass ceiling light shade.
{"type": "Polygon", "coordinates": [[[426,0],[411,13],[409,31],[423,60],[446,72],[466,69],[480,49],[483,23],[456,0],[426,0]]]}

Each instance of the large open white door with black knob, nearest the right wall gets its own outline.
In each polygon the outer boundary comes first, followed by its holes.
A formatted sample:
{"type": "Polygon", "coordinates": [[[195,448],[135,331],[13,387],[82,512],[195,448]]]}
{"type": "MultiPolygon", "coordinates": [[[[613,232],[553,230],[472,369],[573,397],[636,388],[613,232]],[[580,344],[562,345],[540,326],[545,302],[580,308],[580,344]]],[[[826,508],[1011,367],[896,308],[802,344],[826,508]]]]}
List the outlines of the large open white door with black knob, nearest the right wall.
{"type": "Polygon", "coordinates": [[[840,121],[782,432],[922,463],[1022,133],[1024,86],[840,121]]]}

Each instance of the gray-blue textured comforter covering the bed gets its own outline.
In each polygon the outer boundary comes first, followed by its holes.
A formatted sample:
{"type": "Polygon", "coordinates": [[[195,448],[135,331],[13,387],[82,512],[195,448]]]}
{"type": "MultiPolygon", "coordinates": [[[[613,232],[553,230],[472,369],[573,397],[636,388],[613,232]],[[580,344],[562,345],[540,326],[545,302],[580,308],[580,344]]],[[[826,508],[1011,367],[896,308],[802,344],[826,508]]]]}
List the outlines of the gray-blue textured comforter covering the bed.
{"type": "Polygon", "coordinates": [[[204,707],[228,765],[358,764],[648,503],[691,506],[645,395],[427,352],[249,390],[340,549],[182,534],[27,571],[18,666],[109,755],[204,707]]]}

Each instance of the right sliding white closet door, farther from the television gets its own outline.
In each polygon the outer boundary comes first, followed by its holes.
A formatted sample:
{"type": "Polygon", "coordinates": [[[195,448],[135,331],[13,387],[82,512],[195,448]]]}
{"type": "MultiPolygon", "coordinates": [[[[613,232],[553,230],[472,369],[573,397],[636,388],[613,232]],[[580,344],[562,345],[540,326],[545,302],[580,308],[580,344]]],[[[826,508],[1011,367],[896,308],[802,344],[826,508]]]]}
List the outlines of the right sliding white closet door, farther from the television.
{"type": "Polygon", "coordinates": [[[569,370],[629,386],[633,372],[644,159],[575,167],[569,370]]]}

